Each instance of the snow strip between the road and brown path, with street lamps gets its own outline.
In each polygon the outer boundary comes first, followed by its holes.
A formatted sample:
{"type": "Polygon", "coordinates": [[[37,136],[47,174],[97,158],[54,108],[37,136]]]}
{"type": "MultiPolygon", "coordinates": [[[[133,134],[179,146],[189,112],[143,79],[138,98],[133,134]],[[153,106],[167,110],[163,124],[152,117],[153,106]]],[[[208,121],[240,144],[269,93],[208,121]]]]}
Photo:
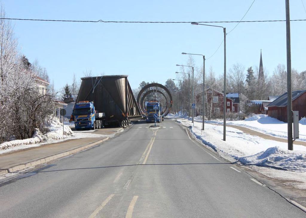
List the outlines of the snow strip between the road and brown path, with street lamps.
{"type": "Polygon", "coordinates": [[[294,145],[294,150],[288,151],[287,143],[252,136],[233,127],[226,128],[226,141],[223,141],[223,126],[205,124],[202,131],[201,122],[194,122],[194,127],[188,119],[178,119],[177,122],[190,126],[198,140],[225,159],[238,161],[238,164],[271,178],[296,181],[286,185],[306,189],[305,146],[294,145]]]}

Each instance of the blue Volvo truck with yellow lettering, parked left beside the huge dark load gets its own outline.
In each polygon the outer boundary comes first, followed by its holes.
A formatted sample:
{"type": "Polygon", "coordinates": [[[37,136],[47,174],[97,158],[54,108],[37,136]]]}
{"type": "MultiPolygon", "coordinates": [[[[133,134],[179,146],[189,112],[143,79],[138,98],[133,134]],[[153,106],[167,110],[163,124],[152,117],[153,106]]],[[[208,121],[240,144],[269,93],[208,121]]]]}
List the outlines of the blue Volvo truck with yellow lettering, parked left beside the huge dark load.
{"type": "Polygon", "coordinates": [[[75,104],[74,126],[76,130],[80,129],[100,129],[103,128],[105,117],[104,113],[95,113],[95,106],[90,101],[80,101],[75,104]]]}

